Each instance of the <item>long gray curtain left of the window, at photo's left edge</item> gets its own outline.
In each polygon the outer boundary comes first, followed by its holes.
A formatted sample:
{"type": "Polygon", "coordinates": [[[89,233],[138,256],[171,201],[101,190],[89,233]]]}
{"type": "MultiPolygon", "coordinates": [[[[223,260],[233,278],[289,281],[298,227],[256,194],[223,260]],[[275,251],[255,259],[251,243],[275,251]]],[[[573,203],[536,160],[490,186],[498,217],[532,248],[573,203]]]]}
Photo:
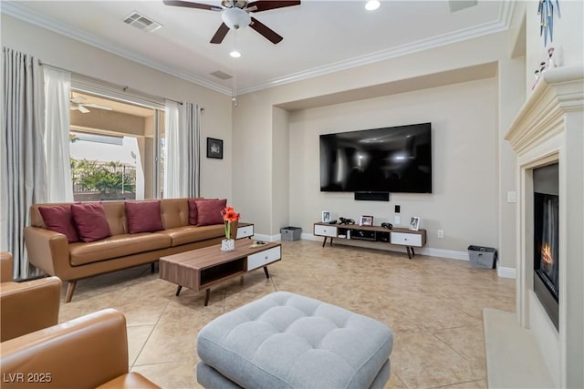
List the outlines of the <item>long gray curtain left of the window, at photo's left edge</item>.
{"type": "Polygon", "coordinates": [[[24,228],[30,206],[47,193],[44,77],[33,56],[6,47],[3,54],[0,250],[12,252],[15,279],[26,279],[37,271],[26,260],[24,228]]]}

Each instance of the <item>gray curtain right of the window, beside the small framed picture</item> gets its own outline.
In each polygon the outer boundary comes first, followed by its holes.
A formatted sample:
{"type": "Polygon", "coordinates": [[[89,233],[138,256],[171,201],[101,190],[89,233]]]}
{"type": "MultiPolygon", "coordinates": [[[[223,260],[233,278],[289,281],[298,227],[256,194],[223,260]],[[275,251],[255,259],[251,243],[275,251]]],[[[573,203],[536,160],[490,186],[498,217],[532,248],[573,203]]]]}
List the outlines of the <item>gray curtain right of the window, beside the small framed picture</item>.
{"type": "Polygon", "coordinates": [[[186,132],[186,155],[181,156],[183,166],[187,169],[187,197],[200,196],[200,166],[201,166],[201,121],[199,106],[193,103],[183,102],[183,115],[180,118],[179,128],[186,132]]]}

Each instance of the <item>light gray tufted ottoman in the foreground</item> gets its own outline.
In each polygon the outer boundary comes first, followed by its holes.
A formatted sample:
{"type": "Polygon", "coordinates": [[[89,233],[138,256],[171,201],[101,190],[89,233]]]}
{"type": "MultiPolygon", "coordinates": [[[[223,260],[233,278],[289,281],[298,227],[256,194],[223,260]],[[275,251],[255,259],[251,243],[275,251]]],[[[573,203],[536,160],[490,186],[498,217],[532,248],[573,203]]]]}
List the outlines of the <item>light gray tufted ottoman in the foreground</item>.
{"type": "Polygon", "coordinates": [[[203,327],[197,381],[207,388],[382,388],[392,346],[381,322],[275,292],[203,327]]]}

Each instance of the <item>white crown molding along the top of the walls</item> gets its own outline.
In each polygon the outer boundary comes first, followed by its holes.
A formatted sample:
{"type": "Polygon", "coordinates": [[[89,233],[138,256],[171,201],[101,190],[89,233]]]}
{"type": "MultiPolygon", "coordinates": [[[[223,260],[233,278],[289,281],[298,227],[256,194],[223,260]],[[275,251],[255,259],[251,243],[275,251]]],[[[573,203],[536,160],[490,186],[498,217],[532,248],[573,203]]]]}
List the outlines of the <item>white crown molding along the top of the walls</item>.
{"type": "MultiPolygon", "coordinates": [[[[243,95],[245,93],[251,93],[270,87],[277,87],[312,77],[324,76],[330,73],[339,72],[341,70],[347,70],[354,67],[362,67],[365,65],[388,60],[398,56],[407,56],[421,52],[423,50],[428,50],[440,46],[452,45],[454,43],[463,42],[465,40],[473,39],[479,36],[486,36],[501,31],[505,31],[510,26],[514,8],[515,2],[502,1],[501,7],[499,8],[498,19],[494,22],[485,23],[483,25],[473,26],[462,30],[457,30],[452,33],[443,34],[441,36],[433,36],[431,38],[422,39],[408,45],[397,46],[388,50],[381,50],[365,56],[357,56],[354,58],[350,58],[348,60],[338,61],[323,67],[313,67],[311,69],[290,74],[284,77],[276,77],[264,83],[258,84],[254,87],[241,88],[238,91],[238,94],[243,95]]],[[[115,42],[90,35],[77,28],[63,26],[59,24],[56,20],[49,18],[45,15],[38,15],[36,13],[32,13],[23,6],[17,5],[15,1],[3,1],[2,9],[0,11],[5,15],[10,15],[16,17],[17,19],[23,20],[27,23],[46,28],[62,36],[68,36],[69,38],[78,40],[82,43],[88,44],[89,46],[98,47],[99,49],[115,54],[116,56],[121,56],[123,58],[130,59],[131,61],[137,62],[141,65],[151,67],[156,70],[160,70],[174,77],[182,78],[186,81],[192,82],[193,84],[199,85],[201,87],[208,87],[209,89],[212,89],[219,93],[223,93],[224,95],[228,96],[230,96],[232,93],[232,90],[228,87],[216,84],[192,73],[182,72],[172,67],[167,67],[159,62],[152,61],[150,58],[141,56],[138,53],[131,52],[130,50],[121,48],[117,46],[115,42]]]]}

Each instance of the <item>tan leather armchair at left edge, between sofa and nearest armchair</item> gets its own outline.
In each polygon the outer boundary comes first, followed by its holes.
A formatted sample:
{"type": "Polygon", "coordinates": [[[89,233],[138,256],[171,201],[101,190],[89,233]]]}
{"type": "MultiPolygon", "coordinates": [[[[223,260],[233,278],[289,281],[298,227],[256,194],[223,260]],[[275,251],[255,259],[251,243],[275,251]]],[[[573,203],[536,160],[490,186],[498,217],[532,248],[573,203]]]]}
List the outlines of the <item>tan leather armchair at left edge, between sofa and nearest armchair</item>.
{"type": "Polygon", "coordinates": [[[0,252],[0,264],[0,342],[57,324],[61,280],[14,282],[9,252],[0,252]]]}

